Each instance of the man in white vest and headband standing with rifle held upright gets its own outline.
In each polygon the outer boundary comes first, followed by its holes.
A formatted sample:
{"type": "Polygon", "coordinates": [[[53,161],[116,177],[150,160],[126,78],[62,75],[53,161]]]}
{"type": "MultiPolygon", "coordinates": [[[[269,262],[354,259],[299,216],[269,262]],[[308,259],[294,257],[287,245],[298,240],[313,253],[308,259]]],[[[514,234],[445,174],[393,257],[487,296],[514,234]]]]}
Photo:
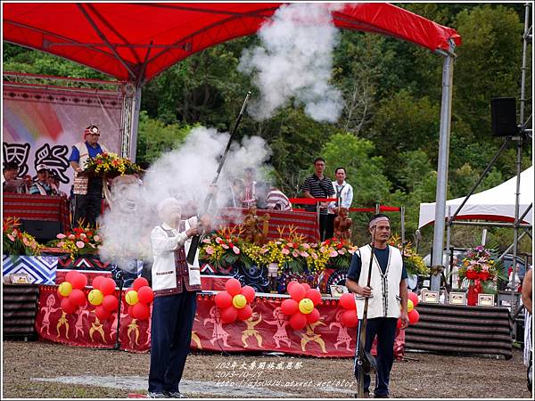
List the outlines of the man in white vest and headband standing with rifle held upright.
{"type": "MultiPolygon", "coordinates": [[[[388,245],[391,236],[390,220],[386,215],[374,215],[368,224],[372,243],[366,244],[355,252],[351,259],[346,286],[357,295],[357,313],[361,319],[364,301],[367,297],[366,351],[372,349],[377,337],[377,372],[375,375],[374,398],[389,397],[389,382],[394,363],[394,340],[398,318],[401,329],[408,325],[407,315],[407,270],[398,248],[388,245]],[[371,282],[367,286],[372,246],[374,260],[371,269],[371,282]]],[[[369,395],[371,379],[364,375],[364,392],[369,395]]]]}

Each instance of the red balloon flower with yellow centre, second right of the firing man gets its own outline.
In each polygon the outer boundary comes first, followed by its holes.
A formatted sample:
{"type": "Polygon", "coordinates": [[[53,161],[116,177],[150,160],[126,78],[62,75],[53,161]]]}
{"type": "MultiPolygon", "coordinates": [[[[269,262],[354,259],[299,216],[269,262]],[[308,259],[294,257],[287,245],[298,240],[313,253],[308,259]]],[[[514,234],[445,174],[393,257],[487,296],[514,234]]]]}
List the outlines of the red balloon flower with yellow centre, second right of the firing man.
{"type": "Polygon", "coordinates": [[[288,284],[290,299],[281,304],[284,315],[290,315],[290,325],[293,330],[302,330],[307,324],[317,323],[319,311],[316,306],[322,303],[321,294],[312,290],[309,284],[290,282],[288,284]]]}

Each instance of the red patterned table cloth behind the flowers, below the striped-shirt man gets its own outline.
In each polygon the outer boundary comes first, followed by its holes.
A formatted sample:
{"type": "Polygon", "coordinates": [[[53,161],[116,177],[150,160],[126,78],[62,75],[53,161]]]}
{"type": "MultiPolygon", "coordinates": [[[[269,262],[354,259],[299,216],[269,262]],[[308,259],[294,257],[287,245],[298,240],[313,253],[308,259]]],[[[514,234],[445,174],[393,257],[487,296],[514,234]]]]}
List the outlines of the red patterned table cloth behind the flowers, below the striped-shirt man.
{"type": "MultiPolygon", "coordinates": [[[[243,208],[222,208],[219,209],[220,219],[216,224],[236,225],[241,224],[243,217],[249,212],[249,209],[243,208]]],[[[275,210],[275,209],[257,209],[258,217],[269,215],[268,220],[268,239],[276,240],[280,238],[279,230],[283,230],[284,235],[288,234],[290,228],[295,228],[295,233],[303,235],[305,241],[319,241],[319,225],[317,223],[317,214],[304,210],[275,210]]],[[[261,227],[259,227],[261,229],[261,227]]]]}

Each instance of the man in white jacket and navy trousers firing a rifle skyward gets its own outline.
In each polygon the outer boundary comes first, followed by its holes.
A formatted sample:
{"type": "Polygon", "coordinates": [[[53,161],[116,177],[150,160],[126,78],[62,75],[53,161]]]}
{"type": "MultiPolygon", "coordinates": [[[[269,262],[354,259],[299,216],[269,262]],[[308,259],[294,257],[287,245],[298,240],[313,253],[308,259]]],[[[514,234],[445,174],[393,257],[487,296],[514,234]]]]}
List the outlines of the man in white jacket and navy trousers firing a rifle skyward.
{"type": "Polygon", "coordinates": [[[151,369],[149,398],[184,398],[178,384],[190,351],[193,318],[197,308],[197,291],[201,291],[199,254],[193,265],[185,255],[191,237],[208,230],[208,217],[182,219],[182,208],[175,198],[158,205],[161,225],[152,229],[151,369]]]}

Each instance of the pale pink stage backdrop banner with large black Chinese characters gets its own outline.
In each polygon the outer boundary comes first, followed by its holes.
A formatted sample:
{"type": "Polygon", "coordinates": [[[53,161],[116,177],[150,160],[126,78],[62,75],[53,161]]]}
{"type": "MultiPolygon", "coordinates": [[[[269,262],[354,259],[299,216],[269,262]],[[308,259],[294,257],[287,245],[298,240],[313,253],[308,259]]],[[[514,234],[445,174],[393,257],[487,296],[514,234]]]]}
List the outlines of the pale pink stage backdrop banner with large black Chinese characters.
{"type": "Polygon", "coordinates": [[[68,162],[72,145],[82,141],[84,129],[100,128],[99,142],[120,153],[122,142],[121,91],[87,91],[72,87],[29,84],[6,85],[4,81],[3,156],[14,161],[19,176],[37,176],[36,167],[45,163],[69,193],[73,170],[68,162]]]}

